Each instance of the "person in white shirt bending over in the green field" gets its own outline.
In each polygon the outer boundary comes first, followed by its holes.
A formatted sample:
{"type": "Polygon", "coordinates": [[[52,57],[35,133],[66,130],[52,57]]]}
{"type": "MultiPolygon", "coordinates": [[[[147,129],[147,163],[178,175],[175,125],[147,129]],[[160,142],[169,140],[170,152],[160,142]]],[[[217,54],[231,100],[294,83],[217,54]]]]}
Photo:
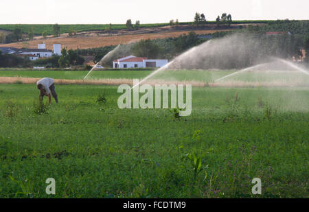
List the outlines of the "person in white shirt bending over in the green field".
{"type": "Polygon", "coordinates": [[[41,80],[38,80],[38,82],[36,82],[36,87],[38,88],[38,90],[40,90],[40,99],[43,100],[44,95],[48,96],[49,99],[49,104],[50,104],[50,93],[52,92],[52,95],[56,101],[56,103],[58,103],[58,97],[57,97],[57,93],[55,91],[55,84],[54,84],[54,80],[52,78],[43,78],[41,80]]]}

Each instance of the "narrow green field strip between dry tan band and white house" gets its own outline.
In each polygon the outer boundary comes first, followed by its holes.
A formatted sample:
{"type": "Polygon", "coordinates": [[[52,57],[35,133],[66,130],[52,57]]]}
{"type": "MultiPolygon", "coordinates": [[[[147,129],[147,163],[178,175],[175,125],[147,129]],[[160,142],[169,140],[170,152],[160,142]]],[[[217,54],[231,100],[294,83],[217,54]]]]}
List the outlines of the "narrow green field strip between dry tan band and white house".
{"type": "MultiPolygon", "coordinates": [[[[165,81],[196,81],[196,82],[214,82],[225,75],[229,75],[237,70],[225,71],[198,71],[198,70],[176,70],[176,71],[161,71],[154,75],[150,80],[165,80],[165,81]]],[[[24,78],[54,78],[54,79],[71,79],[82,80],[89,71],[7,71],[0,70],[0,77],[24,77],[24,78]]],[[[98,79],[142,79],[152,71],[92,71],[88,80],[98,79]]],[[[239,81],[239,82],[297,82],[299,84],[309,85],[309,76],[299,71],[286,72],[245,72],[232,75],[225,78],[225,81],[239,81]]]]}

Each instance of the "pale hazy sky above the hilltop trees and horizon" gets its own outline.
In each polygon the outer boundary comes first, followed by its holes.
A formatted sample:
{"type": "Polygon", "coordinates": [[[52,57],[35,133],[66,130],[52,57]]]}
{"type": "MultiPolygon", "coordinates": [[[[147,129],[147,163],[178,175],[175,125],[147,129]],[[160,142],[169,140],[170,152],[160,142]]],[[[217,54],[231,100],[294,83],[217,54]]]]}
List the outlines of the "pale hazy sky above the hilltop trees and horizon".
{"type": "Polygon", "coordinates": [[[0,24],[185,22],[196,12],[209,21],[223,12],[233,20],[309,20],[309,0],[0,0],[0,8],[0,24]]]}

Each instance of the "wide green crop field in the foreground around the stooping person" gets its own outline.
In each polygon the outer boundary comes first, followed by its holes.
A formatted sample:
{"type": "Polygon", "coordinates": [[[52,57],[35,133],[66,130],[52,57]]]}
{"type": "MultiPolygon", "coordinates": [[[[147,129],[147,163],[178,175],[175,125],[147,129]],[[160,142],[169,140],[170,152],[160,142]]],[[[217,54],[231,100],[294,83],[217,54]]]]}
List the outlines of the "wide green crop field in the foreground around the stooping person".
{"type": "Polygon", "coordinates": [[[193,88],[181,119],[119,109],[117,86],[56,85],[59,103],[42,115],[32,84],[0,91],[1,198],[309,197],[308,88],[193,88]]]}

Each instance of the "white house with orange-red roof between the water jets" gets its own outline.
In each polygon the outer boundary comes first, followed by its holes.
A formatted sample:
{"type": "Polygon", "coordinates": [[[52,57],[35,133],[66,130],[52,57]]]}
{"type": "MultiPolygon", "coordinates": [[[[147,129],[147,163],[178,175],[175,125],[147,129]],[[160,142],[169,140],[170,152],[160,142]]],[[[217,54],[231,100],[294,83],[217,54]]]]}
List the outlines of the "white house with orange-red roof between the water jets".
{"type": "Polygon", "coordinates": [[[113,68],[158,68],[168,64],[168,60],[156,60],[148,58],[139,58],[136,56],[126,56],[113,61],[113,68]]]}

